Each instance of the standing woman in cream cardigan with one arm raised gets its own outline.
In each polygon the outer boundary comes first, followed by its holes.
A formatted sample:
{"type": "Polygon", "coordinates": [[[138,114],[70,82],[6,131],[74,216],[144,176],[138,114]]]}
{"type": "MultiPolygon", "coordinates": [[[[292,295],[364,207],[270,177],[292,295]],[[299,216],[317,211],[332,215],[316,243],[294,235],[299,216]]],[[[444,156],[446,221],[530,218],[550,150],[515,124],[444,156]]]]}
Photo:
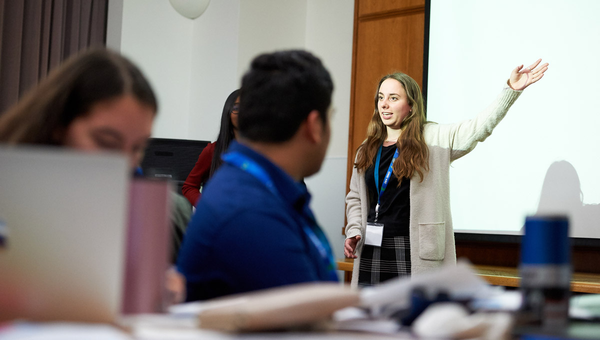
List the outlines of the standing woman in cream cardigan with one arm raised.
{"type": "Polygon", "coordinates": [[[346,197],[344,254],[355,258],[353,286],[456,262],[450,164],[490,136],[521,92],[544,76],[548,64],[540,62],[512,70],[499,97],[474,119],[448,125],[425,120],[423,95],[411,77],[382,77],[346,197]]]}

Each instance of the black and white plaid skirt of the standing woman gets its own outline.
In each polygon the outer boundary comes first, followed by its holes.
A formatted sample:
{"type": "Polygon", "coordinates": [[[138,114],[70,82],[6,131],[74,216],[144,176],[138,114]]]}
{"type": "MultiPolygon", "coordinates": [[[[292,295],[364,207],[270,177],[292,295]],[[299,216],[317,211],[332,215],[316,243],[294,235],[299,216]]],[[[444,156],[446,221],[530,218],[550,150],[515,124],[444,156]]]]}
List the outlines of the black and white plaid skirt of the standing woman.
{"type": "Polygon", "coordinates": [[[406,277],[410,277],[409,236],[383,237],[380,247],[363,246],[358,267],[359,287],[406,277]]]}

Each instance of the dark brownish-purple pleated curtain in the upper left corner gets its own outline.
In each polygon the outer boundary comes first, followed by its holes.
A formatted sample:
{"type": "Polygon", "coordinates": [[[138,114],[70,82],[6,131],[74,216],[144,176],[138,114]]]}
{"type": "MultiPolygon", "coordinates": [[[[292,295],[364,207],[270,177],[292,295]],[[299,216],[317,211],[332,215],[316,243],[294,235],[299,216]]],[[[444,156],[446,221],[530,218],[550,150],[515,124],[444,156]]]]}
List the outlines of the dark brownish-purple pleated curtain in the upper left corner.
{"type": "Polygon", "coordinates": [[[0,114],[64,59],[106,45],[108,0],[0,0],[0,114]]]}

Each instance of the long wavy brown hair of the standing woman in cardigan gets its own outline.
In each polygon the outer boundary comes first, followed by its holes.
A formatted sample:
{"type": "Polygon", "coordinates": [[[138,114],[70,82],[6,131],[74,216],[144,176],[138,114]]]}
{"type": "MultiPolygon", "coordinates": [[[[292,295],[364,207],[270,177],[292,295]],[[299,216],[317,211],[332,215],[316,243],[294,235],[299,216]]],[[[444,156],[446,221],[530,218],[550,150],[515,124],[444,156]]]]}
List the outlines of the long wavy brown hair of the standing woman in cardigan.
{"type": "Polygon", "coordinates": [[[424,173],[429,171],[429,149],[427,148],[427,144],[425,144],[423,136],[423,128],[425,123],[427,123],[425,119],[425,100],[423,99],[419,85],[414,79],[404,73],[388,74],[379,80],[377,91],[375,91],[375,112],[373,112],[373,117],[367,127],[367,139],[356,149],[356,162],[354,166],[361,172],[373,166],[377,149],[379,149],[379,146],[383,144],[388,136],[386,127],[379,116],[379,106],[377,103],[379,101],[379,88],[381,84],[384,80],[390,78],[400,82],[412,108],[400,126],[402,133],[396,143],[400,154],[394,162],[394,175],[398,179],[398,185],[402,182],[403,177],[410,178],[415,174],[419,174],[422,182],[424,173]]]}

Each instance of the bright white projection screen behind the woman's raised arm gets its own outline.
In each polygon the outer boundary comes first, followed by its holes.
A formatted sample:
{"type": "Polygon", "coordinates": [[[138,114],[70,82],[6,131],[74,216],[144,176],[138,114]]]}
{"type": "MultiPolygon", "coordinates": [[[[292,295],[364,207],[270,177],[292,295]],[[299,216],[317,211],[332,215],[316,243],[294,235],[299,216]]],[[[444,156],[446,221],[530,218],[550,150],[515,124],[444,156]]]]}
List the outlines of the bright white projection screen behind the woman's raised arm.
{"type": "Polygon", "coordinates": [[[517,65],[550,63],[483,143],[452,163],[457,232],[521,234],[566,213],[600,238],[600,1],[431,0],[427,119],[471,119],[517,65]]]}

